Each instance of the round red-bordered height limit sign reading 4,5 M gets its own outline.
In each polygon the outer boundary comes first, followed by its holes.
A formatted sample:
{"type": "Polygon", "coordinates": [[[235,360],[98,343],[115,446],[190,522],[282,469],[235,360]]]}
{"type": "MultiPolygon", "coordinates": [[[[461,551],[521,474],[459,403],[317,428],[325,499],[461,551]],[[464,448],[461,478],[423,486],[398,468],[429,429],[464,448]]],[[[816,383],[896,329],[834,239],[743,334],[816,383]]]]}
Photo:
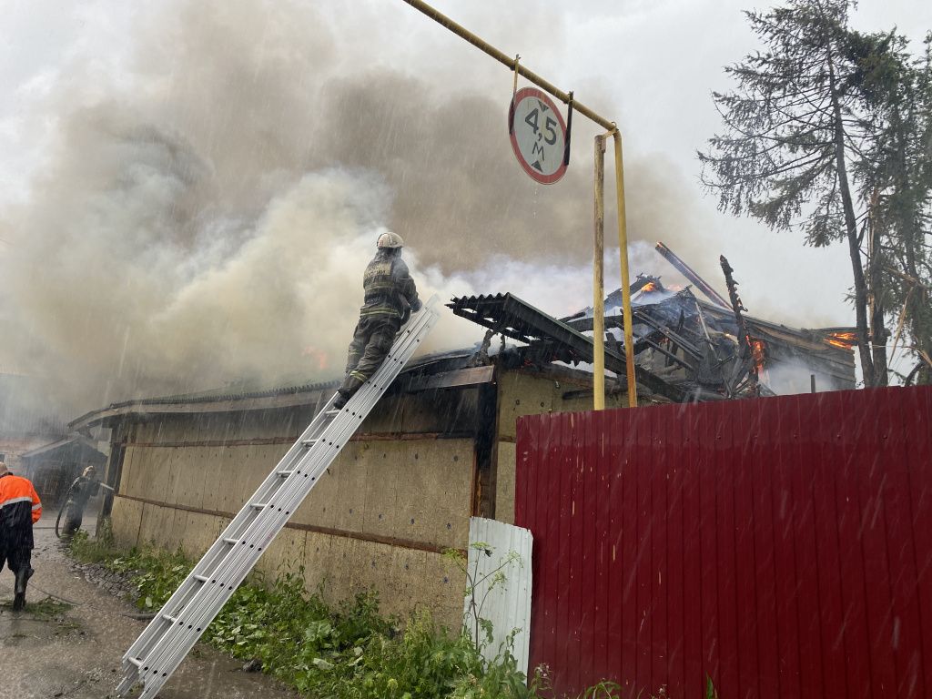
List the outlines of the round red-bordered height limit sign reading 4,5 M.
{"type": "Polygon", "coordinates": [[[567,125],[554,102],[537,88],[514,93],[508,130],[521,167],[542,185],[553,185],[567,171],[567,125]]]}

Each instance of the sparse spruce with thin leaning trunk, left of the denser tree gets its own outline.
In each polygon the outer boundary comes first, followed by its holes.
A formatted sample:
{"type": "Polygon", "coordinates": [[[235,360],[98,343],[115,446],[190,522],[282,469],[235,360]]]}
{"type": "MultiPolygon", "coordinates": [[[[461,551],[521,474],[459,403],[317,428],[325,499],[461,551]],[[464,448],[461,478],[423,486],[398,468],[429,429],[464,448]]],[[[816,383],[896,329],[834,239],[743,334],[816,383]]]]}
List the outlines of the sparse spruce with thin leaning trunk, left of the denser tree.
{"type": "Polygon", "coordinates": [[[774,229],[801,226],[810,245],[846,242],[859,358],[865,385],[874,386],[886,377],[875,371],[870,349],[867,211],[856,210],[852,167],[872,134],[854,88],[862,76],[852,60],[849,7],[848,0],[789,0],[746,13],[763,50],[726,68],[737,87],[713,95],[725,132],[699,158],[722,210],[774,229]]]}

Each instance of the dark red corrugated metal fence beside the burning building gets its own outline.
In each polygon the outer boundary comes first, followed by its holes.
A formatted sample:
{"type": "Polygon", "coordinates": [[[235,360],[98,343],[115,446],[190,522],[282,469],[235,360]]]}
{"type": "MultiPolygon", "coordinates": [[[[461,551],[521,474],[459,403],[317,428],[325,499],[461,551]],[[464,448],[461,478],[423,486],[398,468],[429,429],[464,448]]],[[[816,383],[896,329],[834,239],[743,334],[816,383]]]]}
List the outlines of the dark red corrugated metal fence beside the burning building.
{"type": "Polygon", "coordinates": [[[557,692],[932,697],[932,390],[522,418],[557,692]]]}

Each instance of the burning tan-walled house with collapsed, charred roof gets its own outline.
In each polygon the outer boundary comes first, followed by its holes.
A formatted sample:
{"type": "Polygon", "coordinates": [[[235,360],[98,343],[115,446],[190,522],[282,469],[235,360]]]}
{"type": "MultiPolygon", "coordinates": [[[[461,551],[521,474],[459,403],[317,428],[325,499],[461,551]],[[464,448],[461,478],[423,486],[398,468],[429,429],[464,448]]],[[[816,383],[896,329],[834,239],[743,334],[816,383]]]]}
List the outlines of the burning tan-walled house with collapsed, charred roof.
{"type": "MultiPolygon", "coordinates": [[[[723,299],[655,277],[638,278],[632,293],[639,404],[809,391],[813,375],[819,390],[854,387],[852,352],[836,331],[739,313],[743,332],[723,299]]],[[[607,299],[606,367],[619,377],[607,407],[627,404],[618,296],[607,299]]],[[[473,515],[514,520],[516,420],[589,409],[594,344],[591,312],[556,319],[510,294],[448,306],[485,328],[483,341],[408,365],[260,569],[303,568],[308,589],[322,586],[332,600],[374,588],[388,612],[426,605],[459,624],[463,581],[443,552],[465,548],[473,515]]],[[[199,556],[335,390],[332,382],[129,401],[70,428],[111,430],[118,541],[199,556]]]]}

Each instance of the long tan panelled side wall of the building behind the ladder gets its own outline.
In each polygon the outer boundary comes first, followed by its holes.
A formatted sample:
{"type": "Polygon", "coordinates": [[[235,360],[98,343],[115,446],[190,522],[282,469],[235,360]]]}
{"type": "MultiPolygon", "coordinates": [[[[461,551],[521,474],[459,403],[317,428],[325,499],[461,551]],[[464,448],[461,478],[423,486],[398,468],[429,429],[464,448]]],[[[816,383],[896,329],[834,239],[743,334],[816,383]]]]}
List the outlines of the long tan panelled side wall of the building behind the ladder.
{"type": "MultiPolygon", "coordinates": [[[[476,391],[388,396],[308,495],[258,569],[304,567],[330,601],[375,589],[382,610],[430,607],[459,626],[464,581],[445,560],[473,514],[476,391]]],[[[117,540],[198,557],[295,442],[313,407],[164,416],[125,426],[117,540]]]]}

